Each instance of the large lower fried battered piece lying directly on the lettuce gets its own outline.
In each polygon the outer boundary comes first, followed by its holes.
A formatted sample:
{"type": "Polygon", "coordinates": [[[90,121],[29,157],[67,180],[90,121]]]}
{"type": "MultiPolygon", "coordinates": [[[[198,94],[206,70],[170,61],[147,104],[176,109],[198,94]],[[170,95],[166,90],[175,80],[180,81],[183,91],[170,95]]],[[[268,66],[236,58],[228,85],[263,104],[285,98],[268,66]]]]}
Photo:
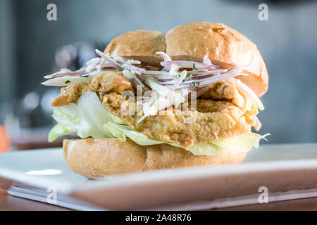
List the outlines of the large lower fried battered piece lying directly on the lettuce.
{"type": "Polygon", "coordinates": [[[149,116],[139,124],[142,115],[137,115],[137,105],[128,103],[120,95],[111,93],[104,96],[103,105],[149,139],[178,143],[184,147],[245,134],[251,129],[244,112],[228,101],[198,99],[195,111],[173,108],[164,111],[163,115],[149,116]],[[131,108],[135,113],[128,113],[131,108]]]}

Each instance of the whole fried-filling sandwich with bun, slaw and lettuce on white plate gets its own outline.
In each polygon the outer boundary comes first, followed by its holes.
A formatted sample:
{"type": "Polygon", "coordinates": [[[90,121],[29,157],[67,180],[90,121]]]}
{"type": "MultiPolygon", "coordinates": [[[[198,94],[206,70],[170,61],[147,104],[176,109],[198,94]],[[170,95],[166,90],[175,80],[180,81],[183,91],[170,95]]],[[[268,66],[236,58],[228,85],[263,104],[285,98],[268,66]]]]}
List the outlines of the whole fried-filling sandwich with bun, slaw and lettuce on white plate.
{"type": "Polygon", "coordinates": [[[266,135],[257,115],[268,90],[261,53],[222,23],[114,38],[85,68],[44,78],[70,169],[89,179],[151,169],[236,164],[266,135]],[[252,131],[254,129],[255,131],[252,131]]]}

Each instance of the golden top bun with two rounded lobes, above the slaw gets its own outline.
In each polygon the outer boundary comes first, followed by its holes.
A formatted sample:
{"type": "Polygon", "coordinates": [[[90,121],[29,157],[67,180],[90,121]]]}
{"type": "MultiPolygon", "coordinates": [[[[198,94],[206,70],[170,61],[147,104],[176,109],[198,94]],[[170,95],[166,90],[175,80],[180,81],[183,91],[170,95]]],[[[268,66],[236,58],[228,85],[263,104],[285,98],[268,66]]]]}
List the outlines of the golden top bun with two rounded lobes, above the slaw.
{"type": "Polygon", "coordinates": [[[173,60],[202,62],[204,56],[222,68],[252,63],[242,70],[249,76],[238,76],[259,97],[268,90],[268,72],[261,53],[247,37],[222,23],[188,23],[173,28],[166,34],[137,30],[122,34],[106,47],[113,56],[134,58],[147,65],[159,66],[163,51],[173,60]]]}

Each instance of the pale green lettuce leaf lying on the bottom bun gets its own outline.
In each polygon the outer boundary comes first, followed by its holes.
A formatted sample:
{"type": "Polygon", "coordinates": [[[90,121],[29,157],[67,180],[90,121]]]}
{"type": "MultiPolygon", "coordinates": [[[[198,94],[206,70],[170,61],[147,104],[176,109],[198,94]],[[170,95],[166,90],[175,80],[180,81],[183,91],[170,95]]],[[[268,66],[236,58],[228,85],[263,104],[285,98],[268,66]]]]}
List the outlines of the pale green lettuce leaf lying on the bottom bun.
{"type": "MultiPolygon", "coordinates": [[[[146,135],[132,129],[119,117],[109,113],[94,92],[87,92],[80,96],[77,104],[70,103],[54,108],[53,117],[58,124],[49,133],[50,142],[55,141],[59,136],[76,132],[82,139],[89,136],[94,139],[116,138],[120,141],[131,139],[140,146],[165,143],[149,139],[146,135]]],[[[220,141],[197,143],[185,149],[194,155],[216,155],[225,149],[249,151],[252,147],[258,148],[259,141],[265,137],[249,132],[220,141]]],[[[183,148],[175,143],[168,144],[183,148]]]]}

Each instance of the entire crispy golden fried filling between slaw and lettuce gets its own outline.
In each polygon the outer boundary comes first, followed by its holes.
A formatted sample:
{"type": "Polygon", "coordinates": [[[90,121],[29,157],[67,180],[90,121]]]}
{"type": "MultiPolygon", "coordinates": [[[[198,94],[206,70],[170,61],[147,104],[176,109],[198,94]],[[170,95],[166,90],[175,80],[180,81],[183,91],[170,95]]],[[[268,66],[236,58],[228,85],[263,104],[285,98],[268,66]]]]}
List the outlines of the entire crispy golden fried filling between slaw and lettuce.
{"type": "Polygon", "coordinates": [[[255,125],[255,116],[259,113],[254,104],[237,91],[235,84],[218,82],[197,101],[184,103],[182,108],[168,108],[138,123],[143,115],[142,106],[122,98],[120,94],[125,90],[132,91],[128,79],[118,72],[106,72],[94,77],[90,83],[63,88],[51,105],[76,103],[86,91],[95,91],[104,108],[128,122],[133,129],[149,139],[178,143],[184,147],[245,134],[255,125]],[[193,103],[196,103],[196,108],[193,103]],[[184,110],[186,106],[187,110],[184,110]]]}

